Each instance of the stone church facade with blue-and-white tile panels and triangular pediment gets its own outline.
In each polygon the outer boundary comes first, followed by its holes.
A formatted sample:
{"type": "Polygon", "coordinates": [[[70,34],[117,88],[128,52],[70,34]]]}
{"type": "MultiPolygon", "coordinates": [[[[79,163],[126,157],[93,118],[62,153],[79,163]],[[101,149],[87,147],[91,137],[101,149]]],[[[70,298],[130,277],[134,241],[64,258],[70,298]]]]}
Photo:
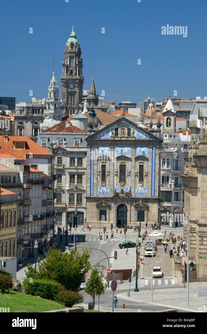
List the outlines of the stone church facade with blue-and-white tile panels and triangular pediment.
{"type": "Polygon", "coordinates": [[[157,223],[161,139],[125,117],[98,131],[89,123],[86,223],[157,223]]]}

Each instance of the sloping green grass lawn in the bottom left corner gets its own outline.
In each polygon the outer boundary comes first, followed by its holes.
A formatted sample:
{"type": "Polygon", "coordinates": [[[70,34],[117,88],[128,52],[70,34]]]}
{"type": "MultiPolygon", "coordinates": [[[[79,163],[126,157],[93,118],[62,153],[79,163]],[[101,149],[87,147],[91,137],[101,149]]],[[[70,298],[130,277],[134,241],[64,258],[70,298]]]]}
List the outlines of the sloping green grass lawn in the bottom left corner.
{"type": "Polygon", "coordinates": [[[10,312],[43,312],[66,308],[48,299],[25,295],[15,291],[4,294],[0,292],[0,307],[9,307],[10,312]]]}

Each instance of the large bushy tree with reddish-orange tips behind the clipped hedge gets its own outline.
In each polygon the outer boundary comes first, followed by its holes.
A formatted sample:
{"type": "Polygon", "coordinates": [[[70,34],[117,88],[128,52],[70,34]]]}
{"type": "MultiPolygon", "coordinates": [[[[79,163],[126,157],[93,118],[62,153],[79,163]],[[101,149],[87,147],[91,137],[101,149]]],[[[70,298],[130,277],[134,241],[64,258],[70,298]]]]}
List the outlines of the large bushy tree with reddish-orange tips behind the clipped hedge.
{"type": "Polygon", "coordinates": [[[77,247],[75,250],[71,249],[70,253],[61,253],[54,244],[45,254],[45,260],[39,265],[36,278],[55,280],[65,289],[77,291],[84,273],[91,269],[91,264],[88,262],[89,253],[87,249],[83,249],[82,254],[79,254],[77,247]]]}

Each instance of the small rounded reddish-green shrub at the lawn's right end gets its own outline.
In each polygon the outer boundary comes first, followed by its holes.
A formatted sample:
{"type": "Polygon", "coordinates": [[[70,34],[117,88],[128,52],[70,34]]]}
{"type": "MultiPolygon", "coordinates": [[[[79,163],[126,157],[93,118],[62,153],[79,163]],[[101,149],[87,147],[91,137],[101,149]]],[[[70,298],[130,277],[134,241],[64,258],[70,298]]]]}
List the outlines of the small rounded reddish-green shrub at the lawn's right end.
{"type": "Polygon", "coordinates": [[[57,294],[55,297],[55,300],[66,306],[66,307],[72,307],[75,304],[80,304],[83,302],[84,298],[83,296],[77,292],[72,290],[62,290],[57,294]]]}

